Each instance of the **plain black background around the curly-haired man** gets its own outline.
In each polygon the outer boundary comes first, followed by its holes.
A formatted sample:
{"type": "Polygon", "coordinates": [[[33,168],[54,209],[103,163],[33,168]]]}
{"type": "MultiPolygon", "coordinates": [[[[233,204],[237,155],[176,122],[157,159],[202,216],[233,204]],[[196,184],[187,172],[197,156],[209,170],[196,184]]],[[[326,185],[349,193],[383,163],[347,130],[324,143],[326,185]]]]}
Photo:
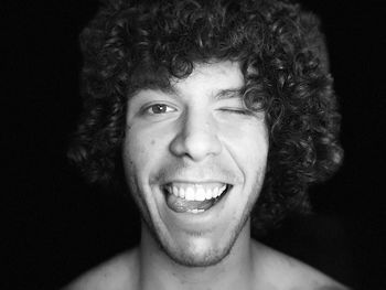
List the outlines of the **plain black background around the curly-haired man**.
{"type": "MultiPolygon", "coordinates": [[[[305,2],[305,1],[304,1],[305,2]]],[[[356,289],[386,289],[384,1],[307,1],[322,19],[345,161],[311,190],[318,216],[267,243],[356,289]]],[[[87,187],[66,161],[81,111],[78,33],[90,0],[1,4],[1,289],[56,289],[138,240],[133,207],[87,187]]]]}

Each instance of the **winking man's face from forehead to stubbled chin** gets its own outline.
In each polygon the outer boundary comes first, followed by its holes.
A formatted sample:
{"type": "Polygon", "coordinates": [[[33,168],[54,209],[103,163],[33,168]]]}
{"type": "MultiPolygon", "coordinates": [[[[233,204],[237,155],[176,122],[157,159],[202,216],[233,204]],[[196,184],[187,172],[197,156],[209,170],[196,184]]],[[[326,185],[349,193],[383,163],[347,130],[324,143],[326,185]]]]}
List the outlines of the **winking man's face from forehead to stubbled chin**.
{"type": "Polygon", "coordinates": [[[268,136],[264,112],[244,107],[243,86],[238,63],[219,62],[129,100],[127,182],[148,228],[179,264],[217,264],[249,232],[268,136]]]}

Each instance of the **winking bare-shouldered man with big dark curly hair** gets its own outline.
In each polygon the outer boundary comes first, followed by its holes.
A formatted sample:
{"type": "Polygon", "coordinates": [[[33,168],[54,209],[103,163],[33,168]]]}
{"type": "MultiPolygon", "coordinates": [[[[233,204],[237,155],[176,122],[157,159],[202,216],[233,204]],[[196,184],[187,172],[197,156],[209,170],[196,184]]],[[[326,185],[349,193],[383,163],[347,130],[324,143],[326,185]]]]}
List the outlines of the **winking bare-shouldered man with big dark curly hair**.
{"type": "Polygon", "coordinates": [[[250,235],[307,212],[309,184],[341,163],[315,17],[278,0],[111,0],[82,47],[69,157],[90,182],[124,175],[142,222],[138,247],[68,289],[346,289],[250,235]]]}

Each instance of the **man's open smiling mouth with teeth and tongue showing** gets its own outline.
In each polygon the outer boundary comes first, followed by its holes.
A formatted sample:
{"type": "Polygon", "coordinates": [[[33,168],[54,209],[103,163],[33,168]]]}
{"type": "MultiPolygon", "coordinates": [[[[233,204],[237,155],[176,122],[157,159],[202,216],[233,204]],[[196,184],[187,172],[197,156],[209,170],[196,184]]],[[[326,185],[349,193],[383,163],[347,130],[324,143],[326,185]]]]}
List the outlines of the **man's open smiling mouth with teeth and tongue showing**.
{"type": "Polygon", "coordinates": [[[212,208],[230,190],[226,183],[179,183],[162,186],[170,210],[199,214],[212,208]]]}

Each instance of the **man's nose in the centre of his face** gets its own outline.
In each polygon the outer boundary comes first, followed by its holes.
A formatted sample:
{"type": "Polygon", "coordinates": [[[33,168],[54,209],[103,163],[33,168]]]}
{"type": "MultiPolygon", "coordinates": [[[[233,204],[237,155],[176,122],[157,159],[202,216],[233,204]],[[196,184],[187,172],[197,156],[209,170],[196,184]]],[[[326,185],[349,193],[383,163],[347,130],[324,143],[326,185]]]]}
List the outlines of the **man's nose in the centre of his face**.
{"type": "Polygon", "coordinates": [[[187,112],[179,123],[179,130],[170,143],[176,157],[186,157],[199,162],[222,151],[217,127],[212,116],[187,112]]]}

